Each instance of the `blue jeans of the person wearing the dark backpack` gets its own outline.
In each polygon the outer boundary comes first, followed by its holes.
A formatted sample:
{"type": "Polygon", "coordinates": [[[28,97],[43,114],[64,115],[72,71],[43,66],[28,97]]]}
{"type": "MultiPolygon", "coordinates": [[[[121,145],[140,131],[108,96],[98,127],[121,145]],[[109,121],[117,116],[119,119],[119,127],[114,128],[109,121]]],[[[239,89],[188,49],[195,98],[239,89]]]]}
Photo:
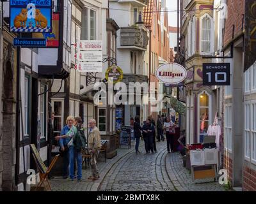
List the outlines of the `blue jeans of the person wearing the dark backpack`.
{"type": "Polygon", "coordinates": [[[77,179],[82,179],[82,153],[77,152],[74,146],[69,147],[69,177],[74,179],[74,159],[77,162],[77,179]]]}

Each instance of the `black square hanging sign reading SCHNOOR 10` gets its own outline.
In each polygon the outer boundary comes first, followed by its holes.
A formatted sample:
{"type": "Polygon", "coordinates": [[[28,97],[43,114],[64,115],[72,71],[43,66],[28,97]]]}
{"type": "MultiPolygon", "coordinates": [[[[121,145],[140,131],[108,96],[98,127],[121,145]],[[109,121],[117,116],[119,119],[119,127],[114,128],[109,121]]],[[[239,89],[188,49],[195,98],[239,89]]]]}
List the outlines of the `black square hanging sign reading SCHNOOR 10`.
{"type": "Polygon", "coordinates": [[[204,63],[203,85],[230,85],[230,63],[204,63]]]}

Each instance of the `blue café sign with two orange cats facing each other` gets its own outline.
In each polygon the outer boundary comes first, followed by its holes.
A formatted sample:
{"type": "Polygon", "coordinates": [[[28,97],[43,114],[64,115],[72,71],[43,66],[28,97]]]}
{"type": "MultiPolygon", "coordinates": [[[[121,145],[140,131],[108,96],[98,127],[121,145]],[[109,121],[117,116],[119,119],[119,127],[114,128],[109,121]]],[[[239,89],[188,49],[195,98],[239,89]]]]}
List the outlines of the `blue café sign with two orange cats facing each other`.
{"type": "Polygon", "coordinates": [[[51,0],[10,0],[10,31],[15,33],[50,33],[51,0]]]}

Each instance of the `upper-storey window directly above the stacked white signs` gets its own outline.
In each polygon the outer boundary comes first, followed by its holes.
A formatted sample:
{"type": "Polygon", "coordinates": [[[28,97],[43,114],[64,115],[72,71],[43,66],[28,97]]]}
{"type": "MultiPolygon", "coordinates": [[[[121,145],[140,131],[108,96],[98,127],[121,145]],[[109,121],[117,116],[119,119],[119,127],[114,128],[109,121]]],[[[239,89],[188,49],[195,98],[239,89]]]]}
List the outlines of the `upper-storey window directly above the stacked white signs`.
{"type": "Polygon", "coordinates": [[[96,40],[97,12],[90,8],[83,8],[81,40],[96,40]],[[90,16],[89,16],[90,15],[90,16]]]}

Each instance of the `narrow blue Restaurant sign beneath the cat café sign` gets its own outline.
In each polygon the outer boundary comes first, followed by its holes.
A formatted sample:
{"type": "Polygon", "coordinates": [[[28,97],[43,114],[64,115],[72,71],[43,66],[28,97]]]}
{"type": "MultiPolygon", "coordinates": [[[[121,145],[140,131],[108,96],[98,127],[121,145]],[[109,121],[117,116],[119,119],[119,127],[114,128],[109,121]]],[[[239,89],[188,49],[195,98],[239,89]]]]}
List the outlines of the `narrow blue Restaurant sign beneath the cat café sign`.
{"type": "Polygon", "coordinates": [[[45,47],[46,39],[33,39],[33,38],[14,38],[13,39],[14,46],[20,47],[45,47]]]}

